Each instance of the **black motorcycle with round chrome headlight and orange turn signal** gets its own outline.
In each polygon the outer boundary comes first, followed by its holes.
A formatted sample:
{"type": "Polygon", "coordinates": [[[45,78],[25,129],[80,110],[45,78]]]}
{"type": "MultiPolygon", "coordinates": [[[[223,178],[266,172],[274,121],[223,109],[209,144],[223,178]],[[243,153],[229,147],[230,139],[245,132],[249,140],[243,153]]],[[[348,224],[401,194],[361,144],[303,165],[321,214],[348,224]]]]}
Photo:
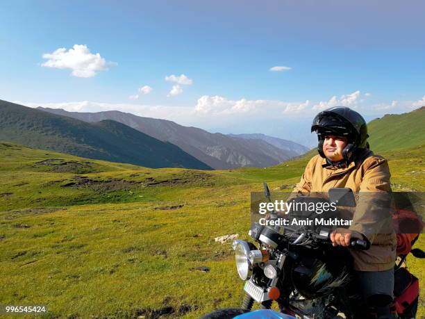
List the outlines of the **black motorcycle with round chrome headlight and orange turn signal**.
{"type": "MultiPolygon", "coordinates": [[[[333,189],[329,200],[352,206],[355,201],[345,190],[348,189],[333,189]],[[331,198],[335,195],[338,199],[331,198]]],[[[266,183],[265,197],[271,202],[266,183]]],[[[270,219],[276,219],[276,212],[272,212],[270,219]]],[[[203,319],[233,318],[251,311],[254,302],[260,304],[260,309],[270,309],[272,302],[277,302],[281,313],[295,318],[365,318],[363,297],[353,280],[351,254],[345,247],[333,247],[329,229],[309,231],[308,227],[293,229],[253,222],[248,234],[256,245],[246,240],[233,242],[236,268],[244,281],[241,308],[215,311],[203,319]]],[[[364,239],[352,238],[351,247],[367,250],[369,243],[364,239]]],[[[425,253],[418,248],[410,252],[417,258],[425,258],[425,253]]],[[[406,281],[406,276],[415,277],[402,267],[405,258],[394,265],[394,287],[404,292],[408,285],[414,285],[408,300],[404,296],[405,300],[401,301],[405,303],[397,308],[399,318],[407,319],[416,316],[419,284],[417,279],[406,281]]],[[[398,294],[394,291],[396,297],[398,294]]]]}

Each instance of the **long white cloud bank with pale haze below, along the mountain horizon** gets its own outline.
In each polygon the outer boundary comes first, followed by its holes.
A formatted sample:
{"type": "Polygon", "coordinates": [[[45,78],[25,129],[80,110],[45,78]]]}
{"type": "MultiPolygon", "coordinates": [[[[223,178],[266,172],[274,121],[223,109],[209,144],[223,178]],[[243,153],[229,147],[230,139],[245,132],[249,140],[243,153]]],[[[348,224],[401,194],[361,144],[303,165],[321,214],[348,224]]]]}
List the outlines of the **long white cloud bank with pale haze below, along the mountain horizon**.
{"type": "Polygon", "coordinates": [[[310,134],[311,120],[324,108],[345,105],[355,109],[366,119],[372,119],[386,113],[409,112],[425,106],[425,96],[414,101],[389,101],[378,104],[372,104],[368,101],[366,93],[359,90],[332,96],[327,101],[316,102],[228,99],[219,95],[203,95],[191,106],[110,104],[97,101],[47,104],[15,101],[15,103],[31,107],[63,108],[74,112],[116,110],[143,117],[171,120],[185,126],[197,126],[211,132],[265,133],[312,146],[315,136],[310,134]]]}

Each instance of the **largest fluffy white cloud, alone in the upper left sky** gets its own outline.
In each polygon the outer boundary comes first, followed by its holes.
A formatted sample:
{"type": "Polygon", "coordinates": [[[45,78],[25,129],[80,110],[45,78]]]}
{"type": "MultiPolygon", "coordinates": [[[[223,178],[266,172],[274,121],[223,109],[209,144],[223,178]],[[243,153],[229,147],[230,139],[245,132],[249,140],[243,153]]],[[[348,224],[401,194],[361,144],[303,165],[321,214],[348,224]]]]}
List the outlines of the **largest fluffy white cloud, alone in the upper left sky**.
{"type": "Polygon", "coordinates": [[[74,44],[72,49],[59,48],[52,53],[43,54],[46,62],[42,67],[54,67],[56,69],[72,69],[72,75],[81,78],[90,78],[97,72],[108,69],[117,63],[106,62],[99,53],[92,54],[84,44],[74,44]]]}

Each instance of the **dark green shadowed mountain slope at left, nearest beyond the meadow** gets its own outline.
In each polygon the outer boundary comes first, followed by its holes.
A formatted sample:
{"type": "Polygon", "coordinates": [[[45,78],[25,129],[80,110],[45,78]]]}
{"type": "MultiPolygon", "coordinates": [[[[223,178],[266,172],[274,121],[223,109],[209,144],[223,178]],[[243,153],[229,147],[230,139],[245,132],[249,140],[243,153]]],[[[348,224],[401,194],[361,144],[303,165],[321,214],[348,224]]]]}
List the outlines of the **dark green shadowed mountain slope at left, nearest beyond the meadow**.
{"type": "Polygon", "coordinates": [[[146,167],[211,167],[176,145],[113,120],[87,123],[0,100],[0,140],[146,167]]]}

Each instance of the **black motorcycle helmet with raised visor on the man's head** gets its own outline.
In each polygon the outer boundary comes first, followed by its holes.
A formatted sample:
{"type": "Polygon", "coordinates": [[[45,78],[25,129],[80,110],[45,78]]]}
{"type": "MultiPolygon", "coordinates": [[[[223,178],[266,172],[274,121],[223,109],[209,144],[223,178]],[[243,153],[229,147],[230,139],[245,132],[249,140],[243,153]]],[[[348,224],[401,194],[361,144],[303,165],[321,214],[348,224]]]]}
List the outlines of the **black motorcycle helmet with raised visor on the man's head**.
{"type": "Polygon", "coordinates": [[[349,162],[358,149],[368,148],[367,124],[362,115],[344,106],[335,106],[316,115],[311,124],[311,131],[317,133],[319,145],[317,152],[323,153],[324,137],[328,133],[346,136],[348,144],[344,147],[342,155],[349,162]]]}

